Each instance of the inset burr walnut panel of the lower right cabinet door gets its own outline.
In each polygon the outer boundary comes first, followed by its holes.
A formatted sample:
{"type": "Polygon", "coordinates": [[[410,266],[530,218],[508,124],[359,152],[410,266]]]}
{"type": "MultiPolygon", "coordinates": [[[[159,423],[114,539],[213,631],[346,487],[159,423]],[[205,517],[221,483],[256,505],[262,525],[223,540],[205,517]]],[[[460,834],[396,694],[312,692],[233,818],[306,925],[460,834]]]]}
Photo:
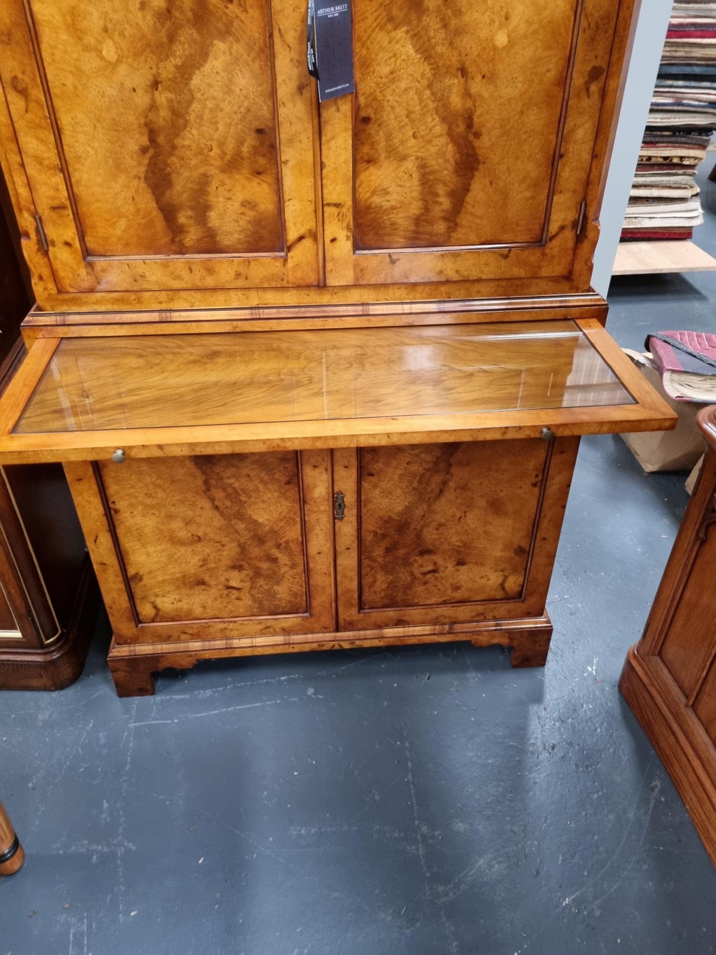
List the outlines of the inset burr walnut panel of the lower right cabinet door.
{"type": "Polygon", "coordinates": [[[519,600],[549,445],[358,451],[360,606],[519,600]]]}

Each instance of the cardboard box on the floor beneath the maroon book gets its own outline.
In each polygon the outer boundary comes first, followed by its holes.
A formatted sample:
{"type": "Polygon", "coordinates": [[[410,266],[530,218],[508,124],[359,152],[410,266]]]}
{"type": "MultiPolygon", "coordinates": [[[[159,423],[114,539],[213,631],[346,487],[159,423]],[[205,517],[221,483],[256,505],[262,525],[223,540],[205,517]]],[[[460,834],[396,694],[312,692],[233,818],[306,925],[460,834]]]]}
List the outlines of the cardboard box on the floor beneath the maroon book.
{"type": "Polygon", "coordinates": [[[666,404],[678,415],[673,431],[648,431],[621,435],[631,453],[637,458],[647,474],[654,471],[686,471],[693,468],[704,454],[705,441],[696,424],[696,415],[704,407],[693,401],[674,401],[664,393],[662,378],[648,364],[649,355],[640,355],[625,349],[642,375],[663,397],[666,404]]]}

